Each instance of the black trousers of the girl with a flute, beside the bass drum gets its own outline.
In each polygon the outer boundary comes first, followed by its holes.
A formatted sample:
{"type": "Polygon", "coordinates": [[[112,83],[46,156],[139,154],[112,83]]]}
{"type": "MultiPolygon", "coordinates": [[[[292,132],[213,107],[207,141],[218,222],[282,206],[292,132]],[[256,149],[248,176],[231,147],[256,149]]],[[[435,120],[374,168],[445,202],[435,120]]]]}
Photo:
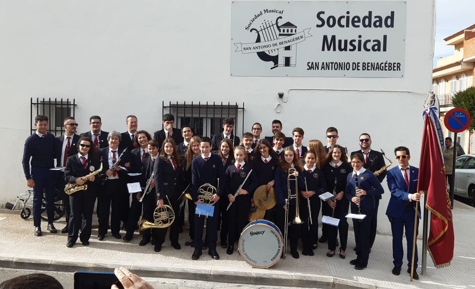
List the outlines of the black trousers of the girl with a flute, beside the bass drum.
{"type": "MultiPolygon", "coordinates": [[[[224,197],[224,198],[227,198],[224,197]]],[[[228,199],[229,201],[229,199],[228,199]]],[[[248,214],[251,206],[251,196],[238,195],[232,205],[227,211],[228,214],[228,235],[229,235],[229,246],[232,246],[234,242],[239,239],[241,232],[243,232],[244,227],[249,223],[248,214]]],[[[226,211],[226,208],[224,208],[226,211]]]]}

